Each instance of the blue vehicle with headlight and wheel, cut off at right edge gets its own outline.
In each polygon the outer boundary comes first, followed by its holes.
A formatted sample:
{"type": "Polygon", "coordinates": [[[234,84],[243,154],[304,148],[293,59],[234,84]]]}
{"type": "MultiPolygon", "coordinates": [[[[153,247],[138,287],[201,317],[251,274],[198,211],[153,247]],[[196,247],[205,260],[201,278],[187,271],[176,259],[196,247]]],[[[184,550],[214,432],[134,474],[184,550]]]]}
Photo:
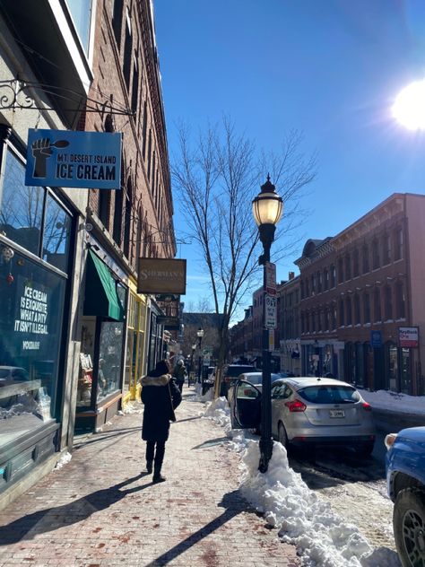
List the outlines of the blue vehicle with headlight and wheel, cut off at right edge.
{"type": "Polygon", "coordinates": [[[403,567],[425,565],[425,427],[386,436],[386,486],[403,567]]]}

